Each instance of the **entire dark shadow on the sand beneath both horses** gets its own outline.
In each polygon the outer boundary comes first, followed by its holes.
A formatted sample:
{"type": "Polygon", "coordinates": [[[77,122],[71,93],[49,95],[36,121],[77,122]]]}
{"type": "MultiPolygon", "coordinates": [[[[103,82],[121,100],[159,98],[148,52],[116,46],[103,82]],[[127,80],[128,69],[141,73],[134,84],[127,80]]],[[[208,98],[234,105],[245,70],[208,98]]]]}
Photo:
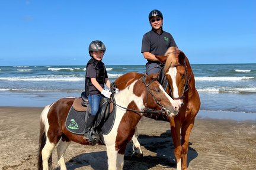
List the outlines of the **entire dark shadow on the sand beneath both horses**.
{"type": "MultiPolygon", "coordinates": [[[[174,156],[174,144],[171,138],[171,130],[162,133],[160,136],[139,135],[138,138],[143,150],[143,157],[137,158],[133,156],[132,143],[129,143],[124,153],[123,169],[150,169],[155,166],[162,168],[176,168],[176,160],[174,156]],[[146,151],[145,151],[146,150],[146,151]]],[[[198,156],[196,150],[191,148],[192,143],[188,147],[187,165],[198,156]]],[[[66,162],[69,170],[76,168],[86,168],[95,170],[107,169],[107,153],[105,151],[82,153],[66,162]],[[90,167],[89,167],[90,166],[90,167]]],[[[55,168],[59,170],[60,168],[55,168]]]]}

